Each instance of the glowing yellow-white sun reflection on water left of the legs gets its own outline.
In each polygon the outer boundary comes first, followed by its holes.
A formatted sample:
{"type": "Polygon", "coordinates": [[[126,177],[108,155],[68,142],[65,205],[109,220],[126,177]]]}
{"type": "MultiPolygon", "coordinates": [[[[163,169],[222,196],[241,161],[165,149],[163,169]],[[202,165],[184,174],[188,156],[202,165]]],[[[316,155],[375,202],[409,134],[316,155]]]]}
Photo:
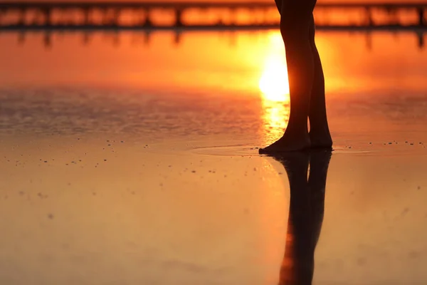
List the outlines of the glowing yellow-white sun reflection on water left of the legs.
{"type": "Polygon", "coordinates": [[[290,112],[288,69],[280,33],[270,33],[270,46],[259,81],[263,104],[265,142],[283,135],[290,112]]]}

